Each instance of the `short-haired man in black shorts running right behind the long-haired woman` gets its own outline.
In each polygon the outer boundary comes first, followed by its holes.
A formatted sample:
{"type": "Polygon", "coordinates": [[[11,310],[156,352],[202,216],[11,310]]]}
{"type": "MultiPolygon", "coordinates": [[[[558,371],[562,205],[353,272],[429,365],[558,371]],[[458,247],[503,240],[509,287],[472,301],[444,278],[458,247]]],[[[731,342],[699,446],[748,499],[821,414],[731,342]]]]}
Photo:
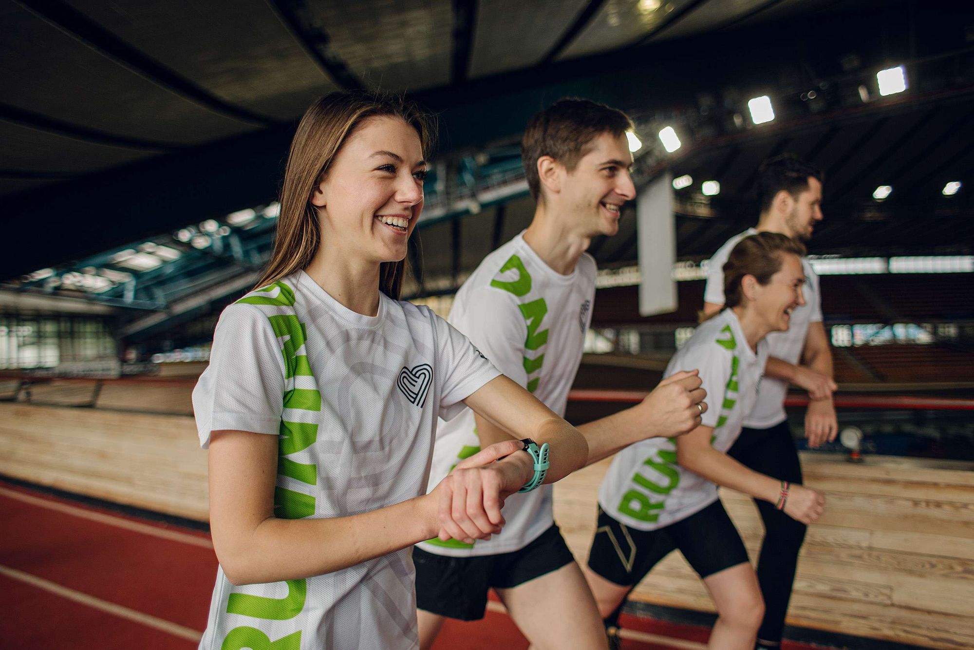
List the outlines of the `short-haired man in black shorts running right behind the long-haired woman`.
{"type": "MultiPolygon", "coordinates": [[[[564,414],[581,363],[595,298],[597,235],[615,235],[635,198],[624,113],[562,99],[535,115],[522,140],[534,219],[488,255],[457,292],[449,321],[508,377],[564,414]]],[[[644,401],[579,427],[588,462],[638,440],[692,431],[706,410],[696,371],[660,383],[644,401]]],[[[461,459],[508,434],[469,409],[440,423],[430,484],[461,459]]],[[[604,647],[605,632],[581,569],[554,524],[551,487],[511,496],[503,532],[490,540],[417,545],[420,644],[429,648],[445,617],[484,615],[494,589],[533,647],[604,647]]]]}

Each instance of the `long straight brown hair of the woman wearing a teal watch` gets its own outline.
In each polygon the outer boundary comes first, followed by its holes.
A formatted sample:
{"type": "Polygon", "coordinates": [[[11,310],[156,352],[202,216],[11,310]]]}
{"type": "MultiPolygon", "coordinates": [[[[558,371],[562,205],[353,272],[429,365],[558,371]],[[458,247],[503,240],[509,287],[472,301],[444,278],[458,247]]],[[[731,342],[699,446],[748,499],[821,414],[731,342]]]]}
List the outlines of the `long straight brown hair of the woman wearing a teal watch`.
{"type": "MultiPolygon", "coordinates": [[[[281,214],[278,216],[274,250],[256,287],[267,287],[311,264],[321,245],[318,209],[311,195],[324,180],[342,145],[365,120],[397,117],[420,136],[424,158],[432,147],[431,116],[401,96],[382,93],[329,93],[305,111],[291,141],[281,185],[281,214]]],[[[402,294],[406,260],[383,262],[379,267],[379,290],[396,300],[402,294]]]]}

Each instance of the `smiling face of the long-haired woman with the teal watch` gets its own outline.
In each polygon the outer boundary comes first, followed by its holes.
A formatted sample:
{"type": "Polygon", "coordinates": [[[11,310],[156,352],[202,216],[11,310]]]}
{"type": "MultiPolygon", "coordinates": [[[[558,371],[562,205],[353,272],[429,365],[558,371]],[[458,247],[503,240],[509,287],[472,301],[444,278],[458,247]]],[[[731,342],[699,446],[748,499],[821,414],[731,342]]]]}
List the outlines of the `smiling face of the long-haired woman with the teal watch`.
{"type": "Polygon", "coordinates": [[[324,246],[369,262],[406,256],[423,210],[426,162],[419,134],[395,117],[365,120],[312,193],[324,246]]]}

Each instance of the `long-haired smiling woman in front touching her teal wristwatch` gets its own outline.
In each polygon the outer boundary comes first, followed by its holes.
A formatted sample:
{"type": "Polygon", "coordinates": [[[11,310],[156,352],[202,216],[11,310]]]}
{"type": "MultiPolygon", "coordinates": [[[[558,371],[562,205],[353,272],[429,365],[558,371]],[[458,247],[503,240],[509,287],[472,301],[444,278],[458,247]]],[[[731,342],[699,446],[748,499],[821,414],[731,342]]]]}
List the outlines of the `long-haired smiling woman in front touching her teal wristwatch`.
{"type": "Polygon", "coordinates": [[[578,431],[399,300],[430,140],[416,106],[364,93],[298,126],[267,271],[221,315],[193,392],[220,561],[201,648],[417,648],[412,545],[489,538],[506,496],[585,462],[578,431]],[[437,417],[465,404],[534,440],[428,495],[437,417]]]}

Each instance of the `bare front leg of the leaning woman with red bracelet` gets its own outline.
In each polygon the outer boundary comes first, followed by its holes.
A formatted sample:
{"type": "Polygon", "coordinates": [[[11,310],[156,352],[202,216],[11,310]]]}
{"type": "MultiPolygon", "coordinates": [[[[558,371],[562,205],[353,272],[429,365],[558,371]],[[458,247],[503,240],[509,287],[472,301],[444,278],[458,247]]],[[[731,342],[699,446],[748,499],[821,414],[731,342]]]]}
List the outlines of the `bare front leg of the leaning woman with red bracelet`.
{"type": "Polygon", "coordinates": [[[707,647],[754,650],[758,628],[765,617],[765,601],[750,562],[718,571],[704,578],[703,584],[717,606],[717,623],[707,647]]]}

